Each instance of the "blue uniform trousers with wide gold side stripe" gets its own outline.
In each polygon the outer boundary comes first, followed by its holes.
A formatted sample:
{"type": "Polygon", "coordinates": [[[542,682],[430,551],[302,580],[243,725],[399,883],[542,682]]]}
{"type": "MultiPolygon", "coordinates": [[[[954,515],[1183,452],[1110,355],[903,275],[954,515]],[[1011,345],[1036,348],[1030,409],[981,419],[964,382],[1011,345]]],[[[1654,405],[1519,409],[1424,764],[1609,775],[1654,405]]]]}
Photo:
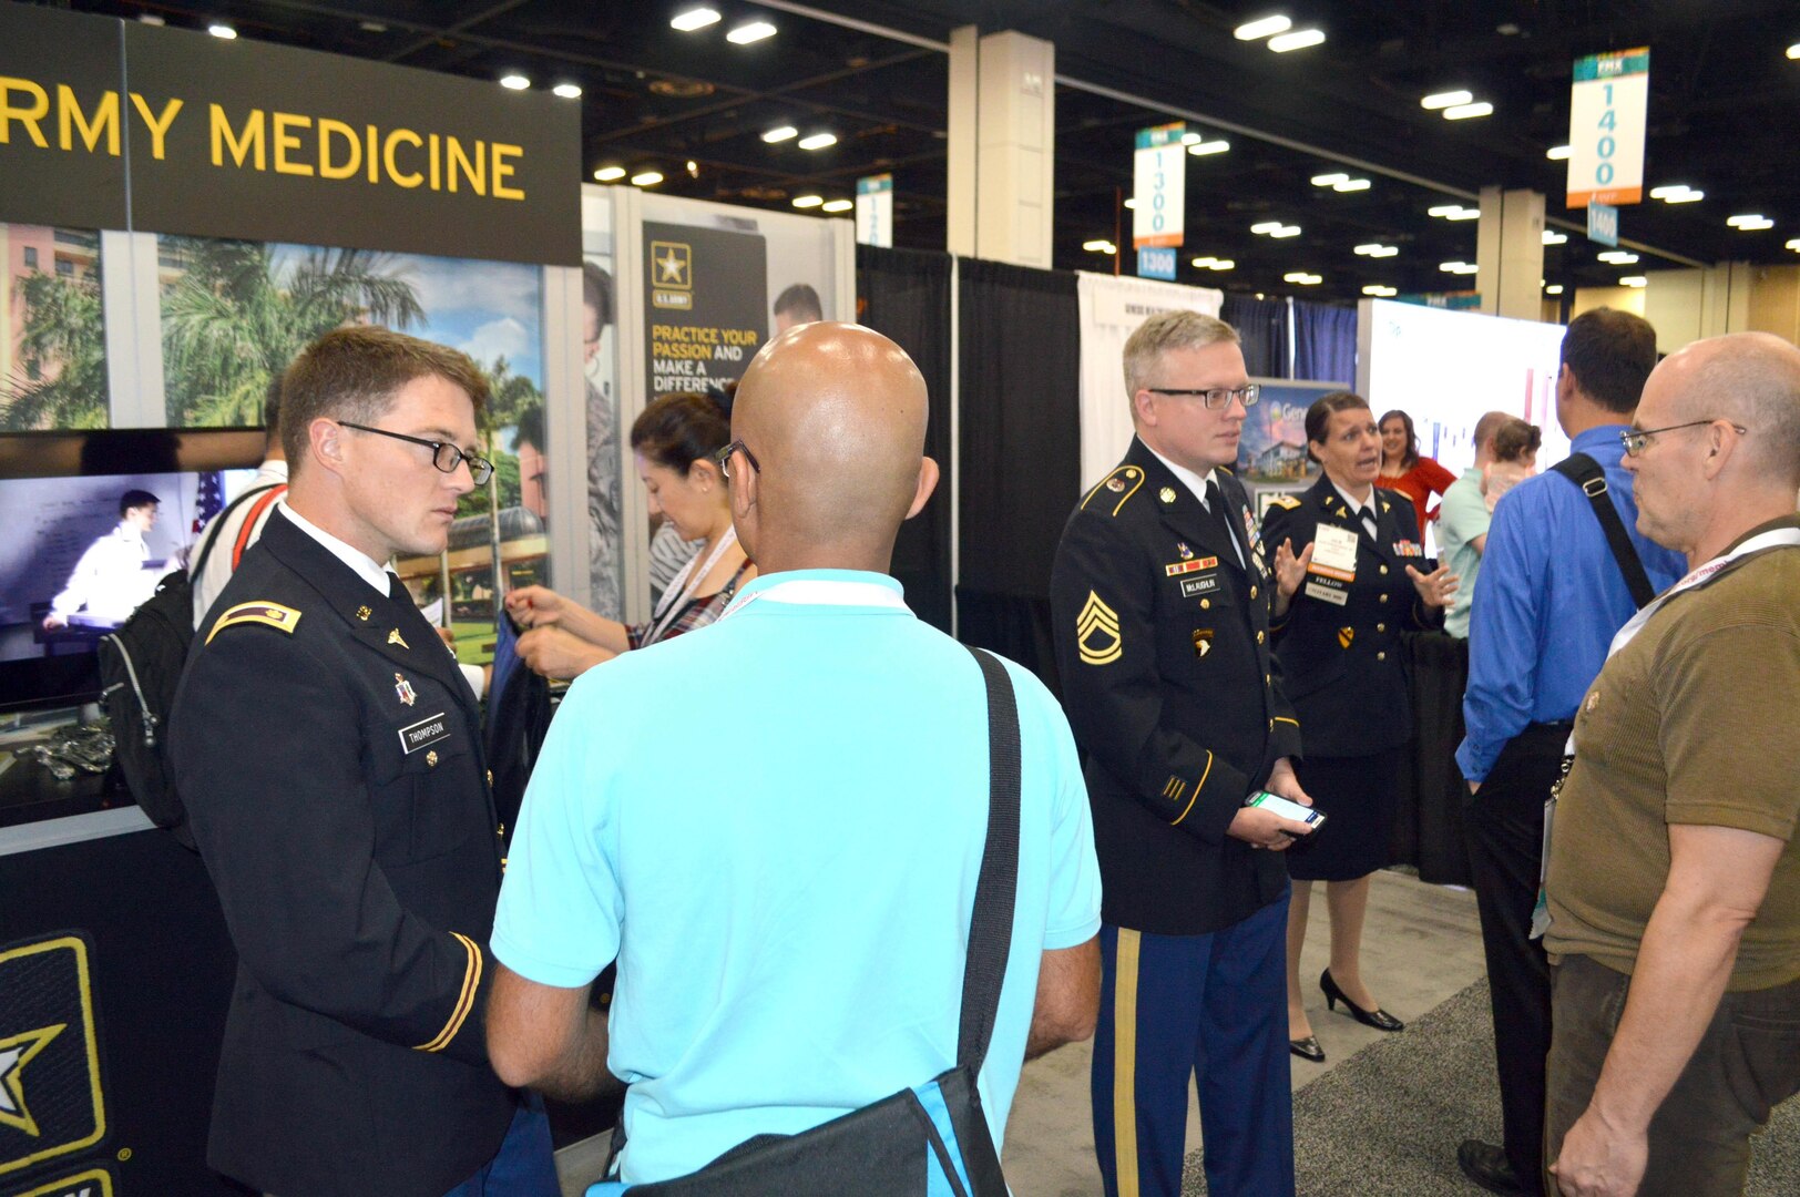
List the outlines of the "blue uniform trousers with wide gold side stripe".
{"type": "Polygon", "coordinates": [[[1188,1075],[1213,1197],[1292,1197],[1287,898],[1224,931],[1100,927],[1094,1152],[1105,1197],[1177,1197],[1188,1075]]]}

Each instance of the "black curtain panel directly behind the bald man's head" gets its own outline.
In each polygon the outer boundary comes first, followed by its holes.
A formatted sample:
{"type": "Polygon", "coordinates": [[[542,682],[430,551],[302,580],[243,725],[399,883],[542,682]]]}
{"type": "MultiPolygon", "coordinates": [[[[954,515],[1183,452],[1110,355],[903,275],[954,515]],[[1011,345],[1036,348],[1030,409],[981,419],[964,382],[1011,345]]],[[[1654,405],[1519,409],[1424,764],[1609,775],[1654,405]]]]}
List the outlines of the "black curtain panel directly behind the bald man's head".
{"type": "Polygon", "coordinates": [[[938,463],[938,491],[900,526],[893,574],[907,607],[950,632],[950,256],[857,247],[857,322],[905,349],[931,394],[925,455],[938,463]]]}

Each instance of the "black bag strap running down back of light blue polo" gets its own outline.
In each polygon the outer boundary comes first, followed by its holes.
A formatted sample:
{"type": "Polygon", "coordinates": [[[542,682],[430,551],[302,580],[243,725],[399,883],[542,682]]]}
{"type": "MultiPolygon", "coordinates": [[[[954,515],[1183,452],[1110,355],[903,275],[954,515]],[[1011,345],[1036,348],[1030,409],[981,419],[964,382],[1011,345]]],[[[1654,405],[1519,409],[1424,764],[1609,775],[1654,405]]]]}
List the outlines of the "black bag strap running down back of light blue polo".
{"type": "Polygon", "coordinates": [[[976,911],[968,920],[968,961],[963,967],[963,1017],[956,1062],[981,1073],[999,1015],[1001,981],[1012,949],[1013,898],[1019,893],[1019,704],[1006,666],[979,648],[968,650],[988,689],[988,842],[976,878],[976,911]]]}

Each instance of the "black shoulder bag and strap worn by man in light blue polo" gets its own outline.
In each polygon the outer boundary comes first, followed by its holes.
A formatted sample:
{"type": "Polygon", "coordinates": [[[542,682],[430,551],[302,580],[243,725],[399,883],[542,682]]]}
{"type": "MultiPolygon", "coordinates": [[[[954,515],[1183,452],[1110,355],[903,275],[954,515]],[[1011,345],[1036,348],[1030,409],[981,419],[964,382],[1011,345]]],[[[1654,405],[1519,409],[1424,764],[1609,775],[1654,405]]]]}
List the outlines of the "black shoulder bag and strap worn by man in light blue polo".
{"type": "Polygon", "coordinates": [[[589,1197],[1008,1197],[976,1078],[999,1013],[1019,887],[1019,707],[1006,668],[970,648],[988,689],[988,839],[976,880],[956,1067],[801,1134],[760,1134],[706,1168],[589,1197]]]}

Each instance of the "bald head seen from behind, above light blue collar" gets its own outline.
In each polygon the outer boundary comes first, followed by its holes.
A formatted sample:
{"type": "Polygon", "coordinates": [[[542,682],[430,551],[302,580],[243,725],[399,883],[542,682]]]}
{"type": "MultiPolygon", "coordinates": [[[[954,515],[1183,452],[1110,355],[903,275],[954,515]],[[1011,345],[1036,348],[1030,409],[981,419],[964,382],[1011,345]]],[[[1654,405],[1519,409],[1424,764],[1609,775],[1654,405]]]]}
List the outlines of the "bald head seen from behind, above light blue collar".
{"type": "Polygon", "coordinates": [[[781,569],[763,560],[772,551],[859,569],[878,554],[886,569],[902,520],[936,481],[934,468],[922,477],[925,414],[913,358],[860,324],[803,324],[763,346],[731,410],[733,437],[760,466],[733,488],[758,565],[781,569]]]}

